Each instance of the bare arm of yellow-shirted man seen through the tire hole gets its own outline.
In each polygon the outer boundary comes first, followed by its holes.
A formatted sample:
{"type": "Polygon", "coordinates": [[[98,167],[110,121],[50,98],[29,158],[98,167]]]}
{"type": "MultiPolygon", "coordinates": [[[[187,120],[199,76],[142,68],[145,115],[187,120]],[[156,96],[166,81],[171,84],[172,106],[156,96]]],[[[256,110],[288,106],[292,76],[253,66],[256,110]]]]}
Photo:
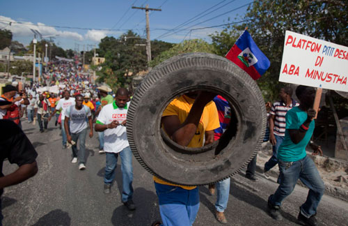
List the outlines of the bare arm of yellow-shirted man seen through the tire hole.
{"type": "Polygon", "coordinates": [[[211,101],[216,94],[201,92],[193,103],[189,115],[184,123],[180,123],[176,115],[164,116],[161,121],[164,130],[171,139],[182,146],[187,146],[196,133],[200,117],[202,116],[205,105],[211,101]]]}

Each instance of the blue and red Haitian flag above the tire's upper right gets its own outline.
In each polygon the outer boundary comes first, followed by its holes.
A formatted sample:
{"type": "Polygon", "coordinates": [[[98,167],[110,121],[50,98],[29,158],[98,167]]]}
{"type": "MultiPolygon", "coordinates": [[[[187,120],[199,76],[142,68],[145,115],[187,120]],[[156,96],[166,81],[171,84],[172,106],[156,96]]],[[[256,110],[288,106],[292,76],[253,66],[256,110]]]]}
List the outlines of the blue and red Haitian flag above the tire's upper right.
{"type": "Polygon", "coordinates": [[[258,80],[271,64],[246,30],[225,57],[245,70],[253,80],[258,80]]]}

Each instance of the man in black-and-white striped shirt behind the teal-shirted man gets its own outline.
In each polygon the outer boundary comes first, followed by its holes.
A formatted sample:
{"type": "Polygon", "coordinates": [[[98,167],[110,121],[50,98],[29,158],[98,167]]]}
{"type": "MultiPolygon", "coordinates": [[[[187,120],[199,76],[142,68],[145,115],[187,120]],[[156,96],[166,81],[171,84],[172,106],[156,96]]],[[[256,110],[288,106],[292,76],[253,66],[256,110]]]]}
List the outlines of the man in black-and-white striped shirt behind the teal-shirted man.
{"type": "MultiPolygon", "coordinates": [[[[281,88],[279,97],[280,100],[272,105],[271,116],[269,117],[269,141],[273,145],[273,155],[269,158],[267,163],[264,164],[264,173],[267,173],[269,169],[278,163],[278,149],[285,136],[285,114],[288,110],[292,109],[292,107],[299,106],[299,103],[291,98],[292,88],[290,86],[281,88]]],[[[265,176],[267,176],[267,174],[265,174],[265,176]]]]}

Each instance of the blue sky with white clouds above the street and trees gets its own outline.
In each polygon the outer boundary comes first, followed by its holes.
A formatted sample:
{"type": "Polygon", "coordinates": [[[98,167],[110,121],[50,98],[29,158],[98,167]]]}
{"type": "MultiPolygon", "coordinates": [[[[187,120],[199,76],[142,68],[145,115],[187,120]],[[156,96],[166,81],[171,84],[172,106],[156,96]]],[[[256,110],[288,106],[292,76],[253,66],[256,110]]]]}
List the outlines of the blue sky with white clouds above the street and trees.
{"type": "Polygon", "coordinates": [[[146,38],[145,10],[150,11],[150,39],[180,43],[190,38],[210,42],[213,27],[243,20],[252,0],[60,0],[0,1],[0,29],[13,32],[13,40],[29,45],[31,29],[68,50],[91,50],[105,36],[118,38],[129,29],[146,38]],[[230,20],[229,20],[230,19],[230,20]],[[11,23],[10,23],[11,22],[11,23]],[[198,29],[204,27],[213,27],[198,29]],[[193,30],[192,30],[193,29],[193,30]],[[194,30],[196,29],[196,30],[194,30]]]}

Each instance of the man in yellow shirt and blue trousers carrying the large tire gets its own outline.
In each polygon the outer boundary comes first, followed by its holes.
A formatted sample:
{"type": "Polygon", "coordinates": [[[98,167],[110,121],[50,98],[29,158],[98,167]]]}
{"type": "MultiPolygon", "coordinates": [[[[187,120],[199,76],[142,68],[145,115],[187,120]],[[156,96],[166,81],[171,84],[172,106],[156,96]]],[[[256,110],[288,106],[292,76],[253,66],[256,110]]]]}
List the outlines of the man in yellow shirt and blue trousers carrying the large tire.
{"type": "MultiPolygon", "coordinates": [[[[220,126],[216,105],[211,101],[214,96],[203,91],[190,92],[169,103],[161,118],[168,137],[177,144],[192,148],[214,142],[214,129],[220,126]]],[[[192,225],[199,209],[198,188],[177,186],[156,176],[154,181],[163,225],[192,225]]]]}

